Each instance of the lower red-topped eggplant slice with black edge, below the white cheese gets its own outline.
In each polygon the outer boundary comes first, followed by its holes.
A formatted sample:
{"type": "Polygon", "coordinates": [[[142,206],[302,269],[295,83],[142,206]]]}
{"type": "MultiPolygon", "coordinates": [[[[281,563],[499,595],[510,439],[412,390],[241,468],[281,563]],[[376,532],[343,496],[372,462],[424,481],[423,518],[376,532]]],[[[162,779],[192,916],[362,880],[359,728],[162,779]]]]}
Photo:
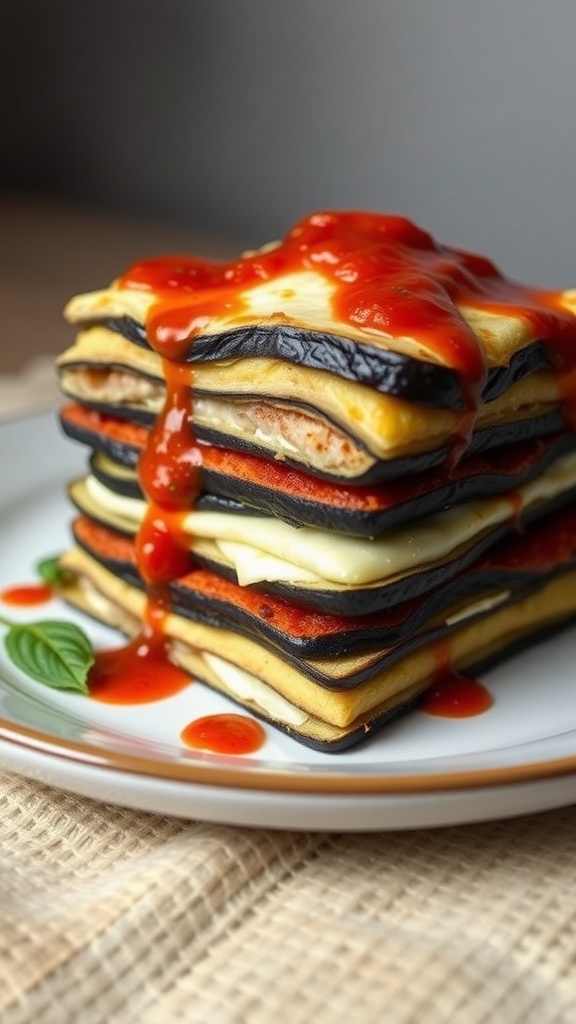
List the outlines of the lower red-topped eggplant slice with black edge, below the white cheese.
{"type": "MultiPolygon", "coordinates": [[[[121,580],[143,589],[130,538],[87,516],[73,523],[77,545],[121,580]]],[[[525,596],[544,574],[576,568],[576,506],[507,537],[444,587],[383,612],[342,616],[308,611],[197,566],[170,584],[171,607],[209,626],[234,629],[286,657],[342,658],[406,645],[424,629],[449,628],[525,596]]]]}

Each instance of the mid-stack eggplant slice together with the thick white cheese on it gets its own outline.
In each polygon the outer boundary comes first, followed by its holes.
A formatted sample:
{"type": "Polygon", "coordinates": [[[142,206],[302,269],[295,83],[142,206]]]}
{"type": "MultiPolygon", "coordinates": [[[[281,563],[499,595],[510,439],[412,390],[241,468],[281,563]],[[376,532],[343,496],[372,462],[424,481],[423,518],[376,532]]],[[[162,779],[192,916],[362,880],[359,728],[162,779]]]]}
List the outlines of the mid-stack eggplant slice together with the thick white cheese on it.
{"type": "MultiPolygon", "coordinates": [[[[511,496],[468,502],[374,539],[199,510],[183,514],[179,529],[200,564],[242,586],[303,607],[367,614],[447,583],[502,536],[566,504],[575,492],[576,454],[569,453],[511,496]]],[[[71,485],[70,497],[84,515],[127,536],[136,534],[145,516],[142,500],[90,475],[71,485]]]]}

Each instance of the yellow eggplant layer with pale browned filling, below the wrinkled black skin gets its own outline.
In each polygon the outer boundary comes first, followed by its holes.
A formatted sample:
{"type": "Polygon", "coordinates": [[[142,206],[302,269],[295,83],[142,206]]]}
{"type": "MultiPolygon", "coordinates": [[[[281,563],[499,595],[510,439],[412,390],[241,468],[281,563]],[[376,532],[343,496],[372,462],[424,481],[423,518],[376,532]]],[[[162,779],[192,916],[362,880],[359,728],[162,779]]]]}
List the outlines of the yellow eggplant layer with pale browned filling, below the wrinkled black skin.
{"type": "MultiPolygon", "coordinates": [[[[58,372],[66,395],[134,423],[152,423],[164,403],[160,357],[99,326],[79,334],[58,372]]],[[[543,435],[562,429],[565,418],[551,370],[521,377],[482,402],[469,436],[461,412],[279,359],[201,362],[188,377],[200,440],[358,483],[453,464],[456,450],[543,435]]]]}

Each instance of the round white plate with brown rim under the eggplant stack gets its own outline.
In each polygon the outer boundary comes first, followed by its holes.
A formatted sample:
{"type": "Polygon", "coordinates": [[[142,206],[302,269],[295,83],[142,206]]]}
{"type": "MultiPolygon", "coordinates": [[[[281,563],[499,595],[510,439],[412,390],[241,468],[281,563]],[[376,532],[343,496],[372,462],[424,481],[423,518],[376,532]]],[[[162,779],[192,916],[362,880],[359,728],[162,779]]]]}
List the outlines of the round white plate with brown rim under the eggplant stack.
{"type": "MultiPolygon", "coordinates": [[[[51,415],[0,426],[0,589],[69,543],[66,484],[86,450],[51,415]]],[[[2,609],[75,618],[96,645],[118,637],[57,601],[2,609]]],[[[396,829],[506,817],[576,801],[576,630],[487,674],[486,714],[415,712],[364,745],[319,754],[269,728],[257,757],[198,754],[179,742],[200,715],[232,710],[192,684],[175,697],[116,707],[29,680],[0,644],[0,764],[84,796],[207,821],[281,828],[396,829]]]]}

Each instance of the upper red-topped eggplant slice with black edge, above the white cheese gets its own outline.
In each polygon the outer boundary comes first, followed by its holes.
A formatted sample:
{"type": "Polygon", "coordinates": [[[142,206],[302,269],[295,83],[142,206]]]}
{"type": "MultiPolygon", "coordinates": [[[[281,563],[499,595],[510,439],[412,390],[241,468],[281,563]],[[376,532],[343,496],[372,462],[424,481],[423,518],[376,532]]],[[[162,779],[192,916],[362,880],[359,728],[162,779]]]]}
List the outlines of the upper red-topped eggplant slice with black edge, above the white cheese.
{"type": "MultiPolygon", "coordinates": [[[[98,480],[126,497],[142,497],[136,466],[148,435],[143,427],[99,416],[81,406],[66,407],[60,422],[68,436],[93,450],[90,469],[98,480]]],[[[576,435],[564,431],[498,449],[488,456],[468,456],[451,471],[444,468],[387,484],[352,486],[319,480],[257,456],[205,444],[203,490],[196,508],[239,515],[257,512],[293,525],[377,537],[462,502],[518,488],[575,447],[576,435]]]]}

